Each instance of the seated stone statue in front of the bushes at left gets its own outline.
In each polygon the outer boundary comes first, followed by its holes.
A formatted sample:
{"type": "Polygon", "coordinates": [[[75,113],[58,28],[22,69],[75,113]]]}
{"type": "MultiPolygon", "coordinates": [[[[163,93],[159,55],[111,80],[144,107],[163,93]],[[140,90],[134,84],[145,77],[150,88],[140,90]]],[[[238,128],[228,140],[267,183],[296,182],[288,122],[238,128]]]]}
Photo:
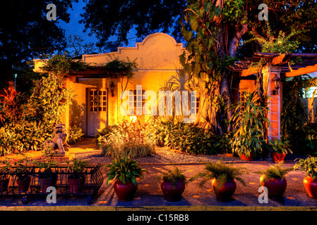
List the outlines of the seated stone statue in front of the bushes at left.
{"type": "Polygon", "coordinates": [[[52,149],[57,156],[64,156],[65,150],[68,151],[71,146],[67,143],[68,134],[65,124],[56,124],[55,136],[52,141],[45,141],[44,150],[52,149]],[[59,149],[59,150],[56,150],[59,149]]]}

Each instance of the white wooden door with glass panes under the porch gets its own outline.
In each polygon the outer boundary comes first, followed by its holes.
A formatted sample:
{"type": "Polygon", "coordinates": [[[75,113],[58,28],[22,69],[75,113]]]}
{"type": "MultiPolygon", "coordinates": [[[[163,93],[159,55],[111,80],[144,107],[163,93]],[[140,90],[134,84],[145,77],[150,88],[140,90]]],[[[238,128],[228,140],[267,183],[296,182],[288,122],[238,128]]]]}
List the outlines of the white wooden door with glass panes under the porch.
{"type": "Polygon", "coordinates": [[[107,126],[108,96],[106,89],[88,91],[88,136],[97,134],[98,129],[107,126]]]}

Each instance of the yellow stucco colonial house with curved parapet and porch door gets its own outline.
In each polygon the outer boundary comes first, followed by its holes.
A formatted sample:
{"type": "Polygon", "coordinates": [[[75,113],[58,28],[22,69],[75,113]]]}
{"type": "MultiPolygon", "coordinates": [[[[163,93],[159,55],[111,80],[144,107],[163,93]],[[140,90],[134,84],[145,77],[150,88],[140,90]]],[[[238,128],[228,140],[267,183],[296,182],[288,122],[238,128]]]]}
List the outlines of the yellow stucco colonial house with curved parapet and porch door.
{"type": "MultiPolygon", "coordinates": [[[[184,51],[183,44],[177,43],[173,37],[154,33],[136,43],[135,47],[119,47],[111,53],[83,55],[84,62],[94,65],[104,65],[114,59],[136,60],[138,70],[129,81],[124,74],[116,77],[109,70],[86,70],[66,75],[65,86],[73,91],[74,98],[66,109],[63,122],[67,126],[80,124],[86,136],[93,136],[98,129],[116,124],[124,118],[127,113],[123,113],[126,109],[122,110],[122,103],[128,105],[130,110],[133,108],[135,115],[140,115],[138,120],[145,121],[147,116],[144,110],[140,114],[145,101],[148,101],[143,98],[145,91],[157,93],[172,77],[186,82],[179,76],[179,56],[184,51]],[[130,92],[121,99],[123,91],[130,92]]],[[[41,66],[42,61],[35,60],[34,71],[41,72],[41,66]]]]}

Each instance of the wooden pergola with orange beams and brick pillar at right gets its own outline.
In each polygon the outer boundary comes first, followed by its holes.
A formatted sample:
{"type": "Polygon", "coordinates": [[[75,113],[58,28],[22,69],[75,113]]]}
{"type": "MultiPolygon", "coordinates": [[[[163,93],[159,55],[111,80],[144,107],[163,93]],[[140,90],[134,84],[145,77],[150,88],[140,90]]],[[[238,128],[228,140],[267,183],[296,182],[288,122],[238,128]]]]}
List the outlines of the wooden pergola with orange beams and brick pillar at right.
{"type": "MultiPolygon", "coordinates": [[[[295,77],[317,71],[317,53],[254,53],[252,57],[245,57],[229,67],[229,70],[239,74],[238,79],[256,79],[259,68],[251,67],[251,63],[257,63],[262,58],[268,59],[268,64],[263,66],[261,73],[263,75],[263,89],[271,98],[268,100],[268,127],[269,139],[280,139],[280,113],[282,110],[282,91],[275,94],[273,77],[280,78],[295,77]],[[301,62],[289,65],[290,60],[301,58],[301,62]]],[[[254,84],[256,85],[256,84],[254,84]]],[[[282,86],[282,84],[281,84],[282,86]]]]}

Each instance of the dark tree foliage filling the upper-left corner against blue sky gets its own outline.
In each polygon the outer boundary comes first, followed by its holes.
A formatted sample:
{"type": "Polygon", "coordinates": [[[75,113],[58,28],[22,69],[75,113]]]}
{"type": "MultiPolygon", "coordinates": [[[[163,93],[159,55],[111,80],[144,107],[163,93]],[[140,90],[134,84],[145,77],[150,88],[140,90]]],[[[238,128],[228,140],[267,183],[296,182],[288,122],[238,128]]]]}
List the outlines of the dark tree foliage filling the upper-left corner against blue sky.
{"type": "Polygon", "coordinates": [[[27,60],[62,50],[64,30],[58,23],[69,22],[67,9],[73,1],[77,0],[54,1],[56,20],[50,21],[47,13],[52,8],[47,9],[47,5],[52,1],[0,1],[0,86],[13,79],[13,73],[28,68],[27,60]]]}

